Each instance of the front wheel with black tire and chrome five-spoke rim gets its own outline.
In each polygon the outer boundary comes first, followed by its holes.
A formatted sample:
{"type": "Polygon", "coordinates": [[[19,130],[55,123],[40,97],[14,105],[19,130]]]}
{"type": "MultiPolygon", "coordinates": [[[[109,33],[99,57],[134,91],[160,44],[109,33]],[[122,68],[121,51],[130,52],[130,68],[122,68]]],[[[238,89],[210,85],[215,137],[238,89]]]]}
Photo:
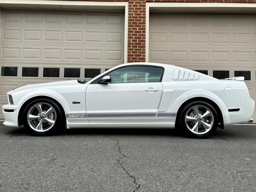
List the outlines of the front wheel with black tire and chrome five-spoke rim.
{"type": "Polygon", "coordinates": [[[24,109],[22,120],[30,134],[49,136],[59,130],[64,117],[56,102],[50,99],[35,99],[24,109]]]}

